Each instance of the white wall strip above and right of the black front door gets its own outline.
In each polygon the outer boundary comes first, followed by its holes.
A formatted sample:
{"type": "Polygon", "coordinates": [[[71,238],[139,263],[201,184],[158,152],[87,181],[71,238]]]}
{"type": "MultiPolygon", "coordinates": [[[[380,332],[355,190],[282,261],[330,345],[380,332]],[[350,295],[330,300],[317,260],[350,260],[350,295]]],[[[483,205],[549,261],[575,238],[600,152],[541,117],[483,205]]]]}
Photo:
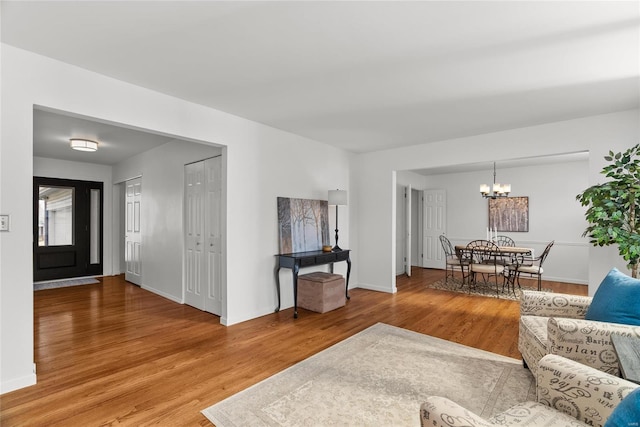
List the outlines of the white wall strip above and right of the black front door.
{"type": "MultiPolygon", "coordinates": [[[[114,263],[118,260],[113,258],[112,224],[112,185],[111,166],[96,165],[92,163],[70,162],[66,160],[47,159],[43,157],[33,158],[33,176],[43,176],[48,178],[76,179],[81,181],[95,181],[103,183],[103,239],[102,271],[104,275],[111,275],[114,271],[114,263]]],[[[116,267],[117,268],[117,267],[116,267]]]]}

